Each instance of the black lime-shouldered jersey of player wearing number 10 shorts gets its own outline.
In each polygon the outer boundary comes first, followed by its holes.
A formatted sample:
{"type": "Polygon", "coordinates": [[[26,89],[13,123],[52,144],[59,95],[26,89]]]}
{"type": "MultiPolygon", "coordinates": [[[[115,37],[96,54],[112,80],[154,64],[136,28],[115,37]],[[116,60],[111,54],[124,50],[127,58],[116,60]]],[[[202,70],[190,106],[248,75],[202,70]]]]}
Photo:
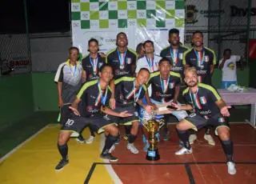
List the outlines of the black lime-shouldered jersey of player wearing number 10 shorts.
{"type": "Polygon", "coordinates": [[[101,107],[109,106],[111,90],[110,86],[102,90],[99,80],[85,82],[77,95],[82,100],[79,112],[83,117],[94,117],[101,115],[101,107]]]}

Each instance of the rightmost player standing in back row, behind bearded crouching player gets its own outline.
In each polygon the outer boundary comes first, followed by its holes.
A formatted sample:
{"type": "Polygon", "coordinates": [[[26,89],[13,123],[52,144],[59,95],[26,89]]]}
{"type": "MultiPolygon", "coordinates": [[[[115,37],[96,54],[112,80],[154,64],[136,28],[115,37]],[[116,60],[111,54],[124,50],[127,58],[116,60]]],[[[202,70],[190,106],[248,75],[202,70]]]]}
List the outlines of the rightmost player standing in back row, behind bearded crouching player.
{"type": "MultiPolygon", "coordinates": [[[[186,50],[183,54],[183,65],[185,68],[194,66],[198,73],[198,82],[211,85],[211,76],[214,74],[216,56],[214,50],[203,46],[203,35],[200,31],[195,31],[192,37],[193,48],[186,50]]],[[[210,127],[206,126],[204,138],[210,145],[215,145],[214,138],[210,135],[210,127]]],[[[190,144],[197,139],[196,134],[190,135],[190,144]]]]}

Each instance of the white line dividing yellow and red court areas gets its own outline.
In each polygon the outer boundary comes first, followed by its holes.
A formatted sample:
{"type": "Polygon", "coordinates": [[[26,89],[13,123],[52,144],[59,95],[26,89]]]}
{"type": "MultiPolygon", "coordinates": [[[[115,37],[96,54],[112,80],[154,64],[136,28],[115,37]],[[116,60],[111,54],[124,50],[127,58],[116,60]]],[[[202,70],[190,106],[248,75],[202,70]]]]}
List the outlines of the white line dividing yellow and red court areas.
{"type": "MultiPolygon", "coordinates": [[[[103,146],[105,144],[106,137],[105,134],[100,134],[100,146],[99,146],[99,153],[102,153],[103,146]]],[[[110,163],[107,159],[102,159],[105,163],[110,163]]],[[[122,184],[121,179],[118,177],[118,174],[114,172],[113,167],[110,164],[105,165],[107,172],[110,174],[110,177],[116,184],[122,184]]],[[[90,180],[90,178],[89,178],[90,180]]],[[[88,181],[89,182],[89,181],[88,181]]],[[[85,182],[86,183],[86,182],[85,182]]]]}

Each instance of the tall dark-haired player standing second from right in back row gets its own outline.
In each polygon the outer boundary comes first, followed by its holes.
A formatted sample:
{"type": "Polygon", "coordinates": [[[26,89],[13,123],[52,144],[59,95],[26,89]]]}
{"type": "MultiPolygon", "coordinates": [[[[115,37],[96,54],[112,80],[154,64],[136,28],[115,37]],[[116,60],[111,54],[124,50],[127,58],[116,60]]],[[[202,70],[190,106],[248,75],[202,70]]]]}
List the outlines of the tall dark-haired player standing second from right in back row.
{"type": "Polygon", "coordinates": [[[170,42],[170,46],[162,50],[160,56],[162,58],[169,58],[173,65],[171,70],[174,72],[178,72],[181,76],[183,76],[182,58],[183,53],[187,50],[187,48],[184,46],[180,46],[179,30],[175,28],[169,30],[168,41],[170,42]]]}

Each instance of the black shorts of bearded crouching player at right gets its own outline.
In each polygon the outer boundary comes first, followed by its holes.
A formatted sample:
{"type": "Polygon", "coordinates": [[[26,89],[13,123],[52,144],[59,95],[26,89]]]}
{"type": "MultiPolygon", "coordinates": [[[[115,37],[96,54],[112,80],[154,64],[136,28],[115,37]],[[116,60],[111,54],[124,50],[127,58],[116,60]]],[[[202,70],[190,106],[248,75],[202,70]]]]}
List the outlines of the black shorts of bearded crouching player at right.
{"type": "Polygon", "coordinates": [[[185,118],[187,122],[190,122],[194,125],[194,130],[199,130],[203,126],[214,126],[215,131],[214,133],[218,135],[217,130],[218,127],[226,126],[230,128],[230,125],[228,122],[226,122],[226,119],[222,116],[222,114],[215,114],[213,117],[206,119],[203,118],[201,115],[198,114],[190,114],[188,117],[185,118]]]}

